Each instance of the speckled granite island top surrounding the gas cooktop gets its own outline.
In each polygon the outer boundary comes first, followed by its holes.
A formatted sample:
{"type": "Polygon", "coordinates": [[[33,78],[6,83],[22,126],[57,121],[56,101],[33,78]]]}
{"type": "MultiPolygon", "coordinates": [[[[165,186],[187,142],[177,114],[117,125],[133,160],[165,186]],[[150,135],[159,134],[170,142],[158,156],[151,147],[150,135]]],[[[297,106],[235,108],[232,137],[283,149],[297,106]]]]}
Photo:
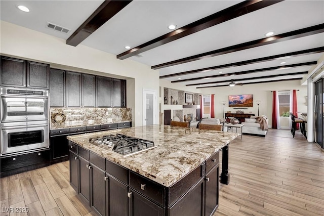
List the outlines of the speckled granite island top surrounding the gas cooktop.
{"type": "Polygon", "coordinates": [[[67,139],[166,187],[220,151],[238,134],[169,125],[149,125],[68,136],[67,139]],[[90,137],[125,134],[157,147],[127,157],[89,143],[90,137]]]}

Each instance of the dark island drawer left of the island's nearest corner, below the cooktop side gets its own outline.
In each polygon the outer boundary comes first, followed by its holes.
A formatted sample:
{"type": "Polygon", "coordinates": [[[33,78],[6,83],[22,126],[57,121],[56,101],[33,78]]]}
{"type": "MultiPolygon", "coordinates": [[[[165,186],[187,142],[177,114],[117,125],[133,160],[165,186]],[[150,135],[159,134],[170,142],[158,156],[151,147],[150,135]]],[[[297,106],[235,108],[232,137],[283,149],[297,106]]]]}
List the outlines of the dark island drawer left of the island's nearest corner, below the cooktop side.
{"type": "Polygon", "coordinates": [[[165,206],[165,187],[130,171],[130,187],[165,206]]]}

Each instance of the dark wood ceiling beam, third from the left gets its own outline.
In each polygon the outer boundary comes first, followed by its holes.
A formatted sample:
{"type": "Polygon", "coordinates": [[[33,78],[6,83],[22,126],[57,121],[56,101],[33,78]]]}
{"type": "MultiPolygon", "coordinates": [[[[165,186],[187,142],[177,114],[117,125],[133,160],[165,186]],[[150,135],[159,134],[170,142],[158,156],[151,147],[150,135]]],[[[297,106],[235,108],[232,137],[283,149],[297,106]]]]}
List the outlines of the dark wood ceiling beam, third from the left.
{"type": "Polygon", "coordinates": [[[314,25],[311,27],[307,27],[307,28],[303,28],[303,29],[299,29],[299,30],[295,30],[295,31],[290,31],[290,32],[283,33],[283,34],[278,34],[278,35],[271,36],[271,37],[252,40],[249,42],[244,42],[242,44],[225,47],[225,48],[222,48],[219,50],[213,50],[213,51],[210,51],[207,53],[201,53],[201,54],[194,55],[194,56],[189,56],[186,58],[178,59],[178,60],[171,61],[171,62],[166,62],[166,63],[159,64],[159,65],[154,65],[151,68],[152,69],[160,69],[160,68],[175,66],[175,65],[179,65],[179,64],[183,64],[183,63],[188,63],[188,62],[201,60],[201,59],[205,59],[205,58],[210,58],[210,57],[214,57],[214,56],[220,56],[223,54],[237,52],[237,51],[241,51],[241,50],[247,50],[250,48],[261,47],[264,45],[275,44],[277,42],[296,39],[296,38],[305,37],[305,36],[318,34],[318,33],[322,33],[322,32],[324,32],[324,23],[319,24],[319,25],[314,25]]]}

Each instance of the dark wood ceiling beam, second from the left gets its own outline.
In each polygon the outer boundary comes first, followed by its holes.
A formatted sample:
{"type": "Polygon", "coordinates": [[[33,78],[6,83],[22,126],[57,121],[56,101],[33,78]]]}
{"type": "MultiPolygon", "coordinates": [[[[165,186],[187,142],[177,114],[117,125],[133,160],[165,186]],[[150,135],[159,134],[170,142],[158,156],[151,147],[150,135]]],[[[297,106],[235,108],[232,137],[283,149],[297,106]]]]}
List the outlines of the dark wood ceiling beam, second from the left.
{"type": "Polygon", "coordinates": [[[177,40],[179,38],[188,36],[192,33],[204,30],[211,26],[226,22],[228,20],[237,18],[239,16],[249,14],[251,12],[257,11],[259,9],[274,5],[282,1],[244,1],[232,7],[226,8],[215,14],[207,16],[203,19],[197,20],[179,29],[171,31],[162,36],[156,37],[144,44],[134,47],[124,53],[117,55],[117,59],[127,59],[137,54],[143,53],[145,51],[151,50],[161,45],[165,45],[168,42],[177,40]]]}

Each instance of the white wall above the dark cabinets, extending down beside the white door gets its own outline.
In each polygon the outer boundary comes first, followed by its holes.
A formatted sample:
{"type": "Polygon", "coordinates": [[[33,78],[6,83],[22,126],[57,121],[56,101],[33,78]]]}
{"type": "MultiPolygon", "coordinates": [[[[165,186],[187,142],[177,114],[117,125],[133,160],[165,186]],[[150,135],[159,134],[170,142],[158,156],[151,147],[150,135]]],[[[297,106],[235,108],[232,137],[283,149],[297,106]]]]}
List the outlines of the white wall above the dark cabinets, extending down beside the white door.
{"type": "Polygon", "coordinates": [[[55,68],[134,78],[134,81],[128,80],[127,83],[127,107],[132,108],[133,126],[142,125],[143,89],[153,90],[158,94],[158,70],[152,70],[149,66],[132,60],[118,60],[115,55],[83,45],[72,47],[66,45],[64,39],[8,22],[1,21],[0,24],[1,55],[45,62],[55,68]]]}

